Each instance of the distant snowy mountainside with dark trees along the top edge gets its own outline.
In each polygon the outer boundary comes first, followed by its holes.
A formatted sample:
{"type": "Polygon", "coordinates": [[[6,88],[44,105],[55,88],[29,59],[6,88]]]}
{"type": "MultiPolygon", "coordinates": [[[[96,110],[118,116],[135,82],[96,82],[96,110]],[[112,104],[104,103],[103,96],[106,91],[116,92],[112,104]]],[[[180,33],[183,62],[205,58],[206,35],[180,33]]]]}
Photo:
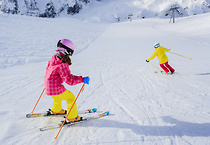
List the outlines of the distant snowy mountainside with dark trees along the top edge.
{"type": "Polygon", "coordinates": [[[0,9],[8,14],[54,18],[80,15],[106,21],[125,18],[170,17],[210,12],[210,0],[0,0],[0,9]]]}

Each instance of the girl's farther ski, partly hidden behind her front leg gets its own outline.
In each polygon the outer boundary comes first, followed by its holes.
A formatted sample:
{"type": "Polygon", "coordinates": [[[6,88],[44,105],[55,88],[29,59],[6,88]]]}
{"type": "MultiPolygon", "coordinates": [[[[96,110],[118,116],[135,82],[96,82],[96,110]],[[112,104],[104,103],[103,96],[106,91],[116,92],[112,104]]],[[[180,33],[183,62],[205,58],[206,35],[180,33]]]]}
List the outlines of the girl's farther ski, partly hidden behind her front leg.
{"type": "MultiPolygon", "coordinates": [[[[92,109],[86,109],[86,110],[83,110],[83,111],[78,111],[78,114],[94,113],[96,111],[97,111],[96,108],[92,108],[92,109]]],[[[49,109],[49,111],[47,111],[46,113],[30,113],[30,114],[26,114],[26,118],[48,117],[48,116],[62,116],[62,115],[66,115],[66,114],[52,114],[51,110],[49,109]]]]}

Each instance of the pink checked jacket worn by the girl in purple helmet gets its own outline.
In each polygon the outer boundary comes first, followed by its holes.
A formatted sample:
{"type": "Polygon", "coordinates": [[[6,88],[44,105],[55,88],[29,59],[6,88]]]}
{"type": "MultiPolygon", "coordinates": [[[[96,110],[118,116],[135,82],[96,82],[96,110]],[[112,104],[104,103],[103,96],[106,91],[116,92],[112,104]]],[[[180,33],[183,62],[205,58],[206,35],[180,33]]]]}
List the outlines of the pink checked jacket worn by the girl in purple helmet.
{"type": "Polygon", "coordinates": [[[46,95],[60,95],[66,91],[63,82],[68,85],[76,85],[83,82],[82,76],[71,74],[68,63],[63,63],[56,55],[53,55],[46,68],[44,85],[46,95]]]}

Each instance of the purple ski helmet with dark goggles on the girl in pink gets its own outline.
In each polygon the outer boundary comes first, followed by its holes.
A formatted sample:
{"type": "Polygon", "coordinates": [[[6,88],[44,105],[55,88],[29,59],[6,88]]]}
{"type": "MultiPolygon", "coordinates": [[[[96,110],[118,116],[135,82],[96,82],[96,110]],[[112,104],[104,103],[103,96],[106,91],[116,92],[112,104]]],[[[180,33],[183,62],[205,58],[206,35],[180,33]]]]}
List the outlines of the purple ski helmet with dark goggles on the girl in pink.
{"type": "Polygon", "coordinates": [[[61,39],[57,43],[57,50],[64,51],[66,55],[72,56],[74,49],[73,42],[68,39],[61,39]]]}

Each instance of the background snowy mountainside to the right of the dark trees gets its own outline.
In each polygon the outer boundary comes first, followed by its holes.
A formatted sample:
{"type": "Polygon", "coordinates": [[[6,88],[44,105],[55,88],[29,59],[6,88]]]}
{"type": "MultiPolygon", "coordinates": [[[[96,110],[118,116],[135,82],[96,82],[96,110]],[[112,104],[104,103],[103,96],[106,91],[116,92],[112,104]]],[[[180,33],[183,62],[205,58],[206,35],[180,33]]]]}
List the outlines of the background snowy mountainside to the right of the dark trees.
{"type": "Polygon", "coordinates": [[[83,7],[76,17],[89,20],[116,22],[142,18],[170,18],[171,8],[176,17],[191,16],[210,12],[209,0],[102,0],[83,7]]]}

